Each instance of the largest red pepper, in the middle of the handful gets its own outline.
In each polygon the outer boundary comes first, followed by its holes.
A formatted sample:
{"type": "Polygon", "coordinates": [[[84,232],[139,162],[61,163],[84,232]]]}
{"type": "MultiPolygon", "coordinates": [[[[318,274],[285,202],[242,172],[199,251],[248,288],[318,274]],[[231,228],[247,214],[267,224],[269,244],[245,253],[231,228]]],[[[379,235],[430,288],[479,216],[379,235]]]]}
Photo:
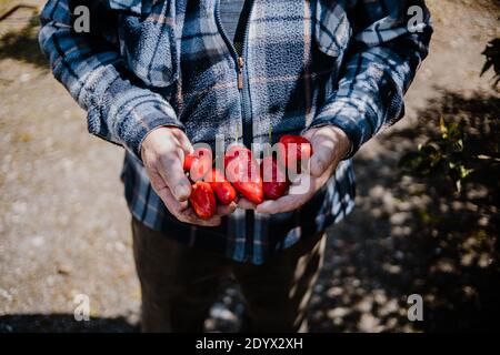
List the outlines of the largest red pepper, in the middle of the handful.
{"type": "Polygon", "coordinates": [[[262,179],[259,163],[250,150],[241,145],[232,145],[224,155],[226,176],[234,189],[248,201],[263,202],[262,179]]]}

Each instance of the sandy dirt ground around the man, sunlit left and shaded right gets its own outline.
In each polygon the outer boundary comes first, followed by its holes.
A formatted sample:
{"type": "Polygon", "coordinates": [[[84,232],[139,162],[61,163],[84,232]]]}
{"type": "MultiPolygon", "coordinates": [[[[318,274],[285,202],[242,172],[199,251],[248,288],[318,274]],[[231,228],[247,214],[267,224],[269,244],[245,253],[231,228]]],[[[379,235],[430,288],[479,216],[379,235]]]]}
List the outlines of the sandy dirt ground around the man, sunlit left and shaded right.
{"type": "MultiPolygon", "coordinates": [[[[12,3],[3,1],[0,13],[12,3]]],[[[437,239],[422,239],[412,211],[429,196],[406,193],[411,184],[397,163],[422,139],[399,132],[437,119],[427,114],[430,106],[439,111],[454,95],[462,103],[489,98],[498,109],[491,75],[479,73],[486,43],[500,34],[500,7],[487,0],[428,3],[436,27],[431,53],[408,93],[406,119],[356,158],[358,207],[329,231],[311,331],[480,329],[486,313],[499,311],[478,306],[484,298],[473,296],[493,287],[490,266],[498,255],[480,252],[470,273],[443,254],[437,239]],[[423,322],[407,318],[413,293],[424,296],[423,322]]],[[[140,288],[119,181],[123,152],[87,133],[84,113],[38,51],[37,28],[30,9],[0,22],[0,332],[133,332],[140,288]],[[73,318],[77,294],[90,297],[90,322],[73,318]]],[[[238,329],[242,307],[228,280],[207,329],[238,329]]]]}

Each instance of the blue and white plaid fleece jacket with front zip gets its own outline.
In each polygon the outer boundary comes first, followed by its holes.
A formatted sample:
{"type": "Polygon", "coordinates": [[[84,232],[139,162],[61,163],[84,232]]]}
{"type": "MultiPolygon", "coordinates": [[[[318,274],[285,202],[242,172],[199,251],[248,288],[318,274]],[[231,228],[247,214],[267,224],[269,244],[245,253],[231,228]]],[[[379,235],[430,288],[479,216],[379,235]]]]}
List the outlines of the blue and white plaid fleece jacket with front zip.
{"type": "Polygon", "coordinates": [[[192,142],[267,142],[333,124],[351,155],[403,115],[402,97],[431,36],[423,0],[253,0],[237,87],[236,53],[221,36],[218,1],[49,0],[40,44],[53,73],[88,112],[89,131],[127,149],[122,179],[133,215],[183,243],[236,261],[263,263],[299,237],[340,221],[353,206],[343,161],[303,207],[273,216],[237,211],[216,229],[176,221],[138,159],[159,125],[192,142]],[[91,8],[91,33],[72,29],[73,9],[91,8]],[[408,9],[424,18],[410,28],[408,9]],[[412,30],[419,30],[417,32],[412,30]]]}

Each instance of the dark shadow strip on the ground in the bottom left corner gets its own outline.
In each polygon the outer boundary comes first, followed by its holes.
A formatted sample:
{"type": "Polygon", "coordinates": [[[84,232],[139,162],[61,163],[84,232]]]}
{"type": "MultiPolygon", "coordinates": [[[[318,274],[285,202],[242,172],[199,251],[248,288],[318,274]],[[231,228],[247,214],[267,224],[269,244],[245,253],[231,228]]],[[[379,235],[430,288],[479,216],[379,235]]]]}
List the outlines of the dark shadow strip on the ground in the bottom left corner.
{"type": "Polygon", "coordinates": [[[137,325],[123,317],[92,317],[89,322],[77,322],[70,314],[13,314],[0,316],[0,333],[131,333],[137,325]]]}

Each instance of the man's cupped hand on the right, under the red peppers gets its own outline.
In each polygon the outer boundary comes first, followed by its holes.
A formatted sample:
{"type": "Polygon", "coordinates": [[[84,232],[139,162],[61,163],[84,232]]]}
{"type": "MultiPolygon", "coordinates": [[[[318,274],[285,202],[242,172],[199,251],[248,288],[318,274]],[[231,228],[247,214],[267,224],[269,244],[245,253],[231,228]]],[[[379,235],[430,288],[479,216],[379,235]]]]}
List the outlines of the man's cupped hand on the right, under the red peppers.
{"type": "MultiPolygon", "coordinates": [[[[332,125],[311,129],[304,136],[312,144],[310,174],[297,176],[287,195],[276,201],[264,201],[256,206],[258,213],[274,214],[302,206],[327,183],[339,162],[349,152],[351,144],[347,134],[332,125]]],[[[249,206],[243,204],[242,207],[249,206]]]]}

